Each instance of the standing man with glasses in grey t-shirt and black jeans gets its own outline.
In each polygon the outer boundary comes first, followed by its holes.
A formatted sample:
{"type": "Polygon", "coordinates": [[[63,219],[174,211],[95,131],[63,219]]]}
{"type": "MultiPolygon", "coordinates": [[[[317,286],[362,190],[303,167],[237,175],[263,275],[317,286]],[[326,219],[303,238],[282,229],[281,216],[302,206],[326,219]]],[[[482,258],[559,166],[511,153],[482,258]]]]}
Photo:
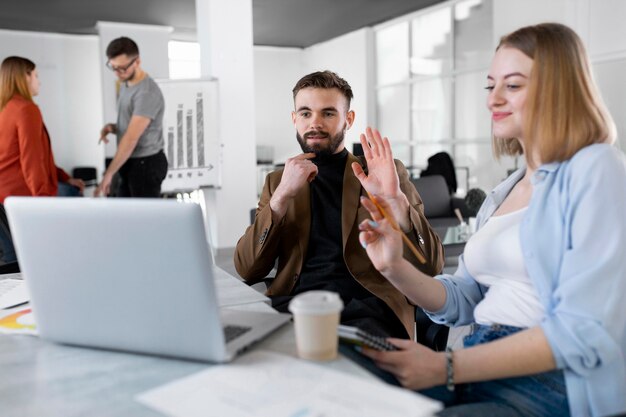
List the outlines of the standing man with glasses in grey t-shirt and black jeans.
{"type": "Polygon", "coordinates": [[[115,71],[121,85],[117,123],[106,124],[100,132],[100,140],[108,143],[106,136],[117,134],[117,152],[95,196],[109,195],[113,176],[119,173],[118,197],[159,197],[167,174],[167,159],[163,153],[163,94],[141,69],[139,48],[132,39],[112,40],[106,54],[107,67],[115,71]]]}

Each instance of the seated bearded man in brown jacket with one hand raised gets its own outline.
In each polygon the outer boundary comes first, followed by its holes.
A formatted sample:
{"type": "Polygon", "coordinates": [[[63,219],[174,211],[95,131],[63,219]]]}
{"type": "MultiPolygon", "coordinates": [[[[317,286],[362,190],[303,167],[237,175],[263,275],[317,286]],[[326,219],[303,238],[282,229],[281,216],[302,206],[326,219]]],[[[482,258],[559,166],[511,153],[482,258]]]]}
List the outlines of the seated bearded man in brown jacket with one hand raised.
{"type": "Polygon", "coordinates": [[[276,265],[266,294],[279,311],[286,311],[297,294],[333,291],[344,303],[341,323],[413,339],[415,307],[374,268],[358,238],[358,225],[368,218],[360,197],[384,196],[402,232],[427,261],[418,262],[409,250],[406,258],[424,272],[441,271],[441,242],[408,172],[399,161],[393,171],[381,169],[382,139],[374,129],[361,135],[364,159],[345,149],[344,136],[355,117],[353,95],[334,72],[304,76],[293,97],[292,120],[303,153],[265,179],[255,221],[237,243],[237,272],[252,284],[276,265]]]}

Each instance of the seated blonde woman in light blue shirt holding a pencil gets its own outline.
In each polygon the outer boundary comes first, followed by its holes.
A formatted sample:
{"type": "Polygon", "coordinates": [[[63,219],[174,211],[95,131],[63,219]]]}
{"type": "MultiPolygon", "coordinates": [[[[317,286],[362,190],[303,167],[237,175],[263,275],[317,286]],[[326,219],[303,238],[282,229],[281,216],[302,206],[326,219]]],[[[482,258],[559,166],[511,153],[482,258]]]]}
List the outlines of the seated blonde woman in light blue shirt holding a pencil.
{"type": "MultiPolygon", "coordinates": [[[[363,353],[444,401],[441,415],[624,413],[626,165],[580,39],[560,24],[504,36],[487,94],[496,156],[521,154],[526,167],[487,197],[458,270],[433,279],[411,266],[366,199],[373,220],[360,234],[410,301],[473,333],[455,352],[390,339],[399,352],[363,353]]],[[[386,139],[370,145],[366,156],[393,167],[386,139]]]]}

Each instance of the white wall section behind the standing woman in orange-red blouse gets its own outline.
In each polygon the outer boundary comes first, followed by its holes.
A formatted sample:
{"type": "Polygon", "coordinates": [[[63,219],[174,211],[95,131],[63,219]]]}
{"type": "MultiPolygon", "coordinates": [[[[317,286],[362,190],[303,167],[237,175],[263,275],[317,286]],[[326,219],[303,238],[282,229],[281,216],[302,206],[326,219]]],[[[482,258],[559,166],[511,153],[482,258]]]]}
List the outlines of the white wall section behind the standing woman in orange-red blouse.
{"type": "Polygon", "coordinates": [[[98,53],[96,36],[0,30],[0,60],[18,55],[37,66],[41,90],[35,102],[50,132],[55,161],[69,174],[76,166],[103,165],[98,53]]]}

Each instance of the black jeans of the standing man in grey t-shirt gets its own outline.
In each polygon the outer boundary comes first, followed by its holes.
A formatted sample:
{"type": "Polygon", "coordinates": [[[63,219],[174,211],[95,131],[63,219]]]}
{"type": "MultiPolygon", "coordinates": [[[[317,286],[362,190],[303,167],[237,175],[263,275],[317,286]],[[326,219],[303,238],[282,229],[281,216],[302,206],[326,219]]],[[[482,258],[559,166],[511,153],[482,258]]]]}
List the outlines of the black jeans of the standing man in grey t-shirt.
{"type": "Polygon", "coordinates": [[[161,183],[167,175],[167,158],[163,151],[129,158],[120,168],[119,174],[118,197],[159,197],[161,183]]]}

